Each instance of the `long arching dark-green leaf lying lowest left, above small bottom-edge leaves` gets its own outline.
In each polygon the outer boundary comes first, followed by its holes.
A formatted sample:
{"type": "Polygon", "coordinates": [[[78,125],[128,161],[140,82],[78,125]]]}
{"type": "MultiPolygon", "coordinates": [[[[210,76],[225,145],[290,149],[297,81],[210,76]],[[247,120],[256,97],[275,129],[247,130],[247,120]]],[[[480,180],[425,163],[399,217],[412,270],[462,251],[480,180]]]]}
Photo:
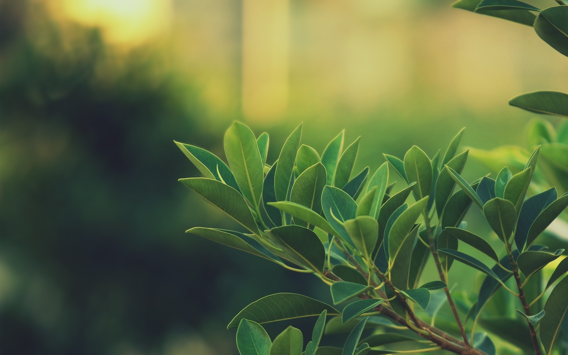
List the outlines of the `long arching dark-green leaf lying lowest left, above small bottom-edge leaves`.
{"type": "Polygon", "coordinates": [[[308,296],[278,293],[250,303],[231,320],[227,329],[237,327],[241,319],[253,320],[262,324],[278,320],[319,316],[323,310],[328,311],[328,316],[341,315],[332,306],[308,296]]]}

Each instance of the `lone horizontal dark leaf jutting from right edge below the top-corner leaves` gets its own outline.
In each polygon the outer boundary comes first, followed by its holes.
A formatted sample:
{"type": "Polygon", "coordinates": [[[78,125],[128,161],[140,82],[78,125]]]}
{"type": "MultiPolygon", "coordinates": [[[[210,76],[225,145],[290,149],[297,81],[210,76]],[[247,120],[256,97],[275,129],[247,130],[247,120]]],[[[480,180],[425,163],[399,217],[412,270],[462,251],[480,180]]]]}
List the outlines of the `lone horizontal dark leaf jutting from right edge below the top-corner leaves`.
{"type": "MultiPolygon", "coordinates": [[[[549,31],[550,27],[545,23],[546,20],[540,20],[535,28],[541,28],[541,31],[544,31],[544,29],[549,31]]],[[[552,31],[553,34],[555,32],[556,29],[552,31]]],[[[551,36],[554,37],[552,34],[551,36]]],[[[562,54],[566,55],[565,53],[562,54]]],[[[520,94],[509,100],[509,105],[520,107],[527,111],[537,112],[538,114],[568,117],[568,94],[559,91],[532,91],[531,93],[520,94]]]]}

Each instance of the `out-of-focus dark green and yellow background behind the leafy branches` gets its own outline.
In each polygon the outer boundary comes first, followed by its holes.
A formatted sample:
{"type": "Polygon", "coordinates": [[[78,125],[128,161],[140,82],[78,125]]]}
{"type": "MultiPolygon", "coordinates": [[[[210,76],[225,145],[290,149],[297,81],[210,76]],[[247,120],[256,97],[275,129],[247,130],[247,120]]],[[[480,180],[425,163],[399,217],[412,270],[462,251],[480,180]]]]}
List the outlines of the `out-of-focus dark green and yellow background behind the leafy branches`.
{"type": "Polygon", "coordinates": [[[524,145],[532,115],[507,100],[568,90],[566,58],[451,3],[0,0],[0,353],[234,355],[248,303],[328,299],[184,233],[234,225],[176,181],[198,171],[172,141],[224,157],[237,119],[270,133],[273,162],[300,122],[320,152],[346,128],[356,170],[462,127],[464,146],[524,145]]]}

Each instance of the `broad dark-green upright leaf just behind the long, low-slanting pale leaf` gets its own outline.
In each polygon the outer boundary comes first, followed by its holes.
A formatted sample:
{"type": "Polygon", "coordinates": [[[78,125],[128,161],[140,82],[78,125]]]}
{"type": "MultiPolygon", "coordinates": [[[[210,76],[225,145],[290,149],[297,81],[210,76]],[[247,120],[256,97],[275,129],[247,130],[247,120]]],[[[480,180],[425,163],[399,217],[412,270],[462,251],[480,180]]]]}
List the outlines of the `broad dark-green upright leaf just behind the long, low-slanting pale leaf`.
{"type": "Polygon", "coordinates": [[[302,204],[316,213],[321,212],[321,191],[325,186],[325,168],[320,162],[304,170],[294,182],[290,202],[302,204]]]}

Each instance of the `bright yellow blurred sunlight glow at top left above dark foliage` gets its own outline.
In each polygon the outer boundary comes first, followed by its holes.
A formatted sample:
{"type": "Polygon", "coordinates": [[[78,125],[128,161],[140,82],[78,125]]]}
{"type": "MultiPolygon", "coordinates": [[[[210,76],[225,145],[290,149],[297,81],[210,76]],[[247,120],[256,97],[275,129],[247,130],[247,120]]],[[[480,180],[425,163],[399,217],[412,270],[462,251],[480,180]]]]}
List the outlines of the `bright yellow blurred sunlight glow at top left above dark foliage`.
{"type": "Polygon", "coordinates": [[[169,0],[61,0],[69,18],[100,27],[116,44],[136,45],[160,35],[170,23],[169,0]]]}

